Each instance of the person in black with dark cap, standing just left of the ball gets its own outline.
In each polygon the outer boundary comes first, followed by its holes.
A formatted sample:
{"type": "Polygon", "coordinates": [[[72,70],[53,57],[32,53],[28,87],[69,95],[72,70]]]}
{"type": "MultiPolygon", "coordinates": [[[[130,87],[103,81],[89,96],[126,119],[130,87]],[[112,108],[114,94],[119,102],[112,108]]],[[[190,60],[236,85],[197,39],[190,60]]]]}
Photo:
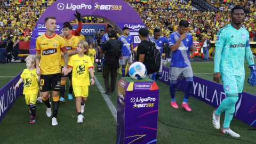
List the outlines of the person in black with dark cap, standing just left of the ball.
{"type": "Polygon", "coordinates": [[[102,46],[102,49],[98,51],[100,53],[105,53],[105,58],[103,62],[103,74],[104,83],[106,87],[105,94],[111,95],[111,92],[115,92],[116,89],[116,77],[117,77],[117,69],[119,67],[118,60],[122,59],[122,47],[123,44],[119,41],[116,35],[115,30],[109,31],[109,41],[102,46]],[[111,86],[109,85],[109,73],[111,78],[111,86]]]}

